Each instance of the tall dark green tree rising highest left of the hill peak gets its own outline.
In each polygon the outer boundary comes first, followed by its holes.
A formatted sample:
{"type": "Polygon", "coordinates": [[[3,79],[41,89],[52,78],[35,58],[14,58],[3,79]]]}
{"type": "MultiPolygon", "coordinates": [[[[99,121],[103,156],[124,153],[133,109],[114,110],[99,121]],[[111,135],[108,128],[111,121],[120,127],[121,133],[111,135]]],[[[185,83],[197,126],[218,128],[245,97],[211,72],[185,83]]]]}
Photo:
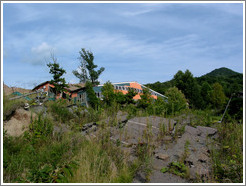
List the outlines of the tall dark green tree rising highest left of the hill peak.
{"type": "Polygon", "coordinates": [[[201,108],[200,88],[189,70],[178,71],[174,75],[174,85],[184,93],[192,107],[201,108]]]}

